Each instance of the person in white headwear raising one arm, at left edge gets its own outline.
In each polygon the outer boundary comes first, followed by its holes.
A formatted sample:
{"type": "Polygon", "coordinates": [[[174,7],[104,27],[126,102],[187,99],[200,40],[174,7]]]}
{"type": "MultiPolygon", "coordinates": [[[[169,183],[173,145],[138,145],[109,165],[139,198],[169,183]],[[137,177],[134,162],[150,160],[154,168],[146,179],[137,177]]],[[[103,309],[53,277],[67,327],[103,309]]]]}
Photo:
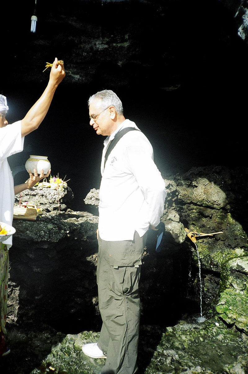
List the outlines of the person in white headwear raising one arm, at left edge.
{"type": "MultiPolygon", "coordinates": [[[[7,157],[11,154],[21,152],[23,150],[24,137],[30,132],[36,130],[52,102],[53,95],[59,83],[65,76],[63,65],[58,65],[58,59],[55,58],[48,85],[39,100],[28,111],[24,119],[21,121],[8,125],[6,120],[6,113],[9,109],[7,106],[7,99],[0,95],[0,221],[12,226],[13,207],[15,194],[33,187],[42,178],[48,177],[50,171],[44,175],[37,174],[34,169],[34,174],[29,171],[30,178],[27,182],[14,186],[13,177],[7,162],[7,157]],[[8,126],[7,126],[8,125],[8,126]]],[[[0,243],[0,357],[7,355],[10,349],[7,348],[5,342],[6,329],[6,312],[7,312],[7,284],[9,272],[9,251],[12,245],[12,237],[0,243]]]]}

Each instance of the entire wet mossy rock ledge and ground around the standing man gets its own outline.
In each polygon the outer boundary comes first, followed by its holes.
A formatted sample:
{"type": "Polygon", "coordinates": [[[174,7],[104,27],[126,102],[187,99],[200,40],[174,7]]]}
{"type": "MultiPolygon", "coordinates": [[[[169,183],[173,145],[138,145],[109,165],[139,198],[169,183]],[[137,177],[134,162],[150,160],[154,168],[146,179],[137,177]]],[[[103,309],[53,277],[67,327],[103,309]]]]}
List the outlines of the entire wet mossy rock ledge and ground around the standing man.
{"type": "MultiPolygon", "coordinates": [[[[140,373],[246,374],[248,171],[194,168],[167,175],[165,183],[165,242],[157,253],[156,234],[149,233],[143,255],[140,373]],[[223,233],[196,236],[196,247],[185,227],[223,233]]],[[[13,223],[7,324],[12,357],[1,360],[0,369],[99,373],[104,362],[81,350],[83,343],[97,341],[101,327],[98,190],[85,198],[95,215],[70,209],[68,187],[61,192],[60,212],[56,193],[48,189],[33,188],[22,196],[22,201],[31,199],[37,199],[43,215],[13,223]]]]}

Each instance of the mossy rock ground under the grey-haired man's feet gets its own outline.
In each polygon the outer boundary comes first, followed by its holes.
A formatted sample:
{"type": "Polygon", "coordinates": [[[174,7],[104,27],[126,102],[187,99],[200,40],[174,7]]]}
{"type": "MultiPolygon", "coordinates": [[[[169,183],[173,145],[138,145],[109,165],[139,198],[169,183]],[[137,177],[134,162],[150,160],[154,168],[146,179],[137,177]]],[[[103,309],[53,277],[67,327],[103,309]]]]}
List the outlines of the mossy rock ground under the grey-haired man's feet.
{"type": "MultiPolygon", "coordinates": [[[[12,355],[0,362],[5,374],[98,374],[104,359],[91,359],[82,345],[97,342],[99,332],[63,334],[12,328],[12,355]],[[27,359],[28,357],[28,359],[27,359]]],[[[215,319],[201,324],[181,321],[174,327],[141,325],[138,366],[147,374],[246,374],[248,337],[215,319]]]]}

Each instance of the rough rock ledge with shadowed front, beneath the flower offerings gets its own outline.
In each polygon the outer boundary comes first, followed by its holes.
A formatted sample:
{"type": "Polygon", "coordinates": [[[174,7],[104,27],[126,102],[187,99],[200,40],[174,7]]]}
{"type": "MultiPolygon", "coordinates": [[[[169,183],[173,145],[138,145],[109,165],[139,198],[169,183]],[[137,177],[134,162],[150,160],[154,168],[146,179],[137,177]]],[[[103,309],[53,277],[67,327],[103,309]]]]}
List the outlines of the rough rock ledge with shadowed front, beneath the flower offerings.
{"type": "Polygon", "coordinates": [[[91,308],[97,312],[98,217],[68,207],[73,198],[70,188],[59,194],[60,212],[56,190],[34,187],[23,194],[22,201],[36,203],[43,214],[34,221],[13,221],[16,233],[10,251],[9,322],[39,324],[48,319],[58,324],[68,316],[82,321],[91,308]]]}

